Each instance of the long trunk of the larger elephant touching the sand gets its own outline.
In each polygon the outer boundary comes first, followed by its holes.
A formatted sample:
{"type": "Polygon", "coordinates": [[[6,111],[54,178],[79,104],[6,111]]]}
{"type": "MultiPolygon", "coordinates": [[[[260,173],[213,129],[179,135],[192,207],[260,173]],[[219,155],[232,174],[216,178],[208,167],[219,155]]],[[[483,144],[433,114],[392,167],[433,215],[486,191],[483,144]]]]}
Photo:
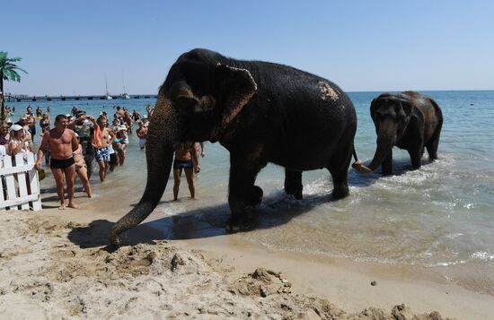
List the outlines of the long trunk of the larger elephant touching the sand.
{"type": "Polygon", "coordinates": [[[119,235],[144,221],[163,196],[172,169],[174,144],[178,137],[176,117],[167,99],[159,99],[149,125],[146,140],[146,190],[136,207],[120,218],[111,228],[110,244],[118,246],[119,235]]]}

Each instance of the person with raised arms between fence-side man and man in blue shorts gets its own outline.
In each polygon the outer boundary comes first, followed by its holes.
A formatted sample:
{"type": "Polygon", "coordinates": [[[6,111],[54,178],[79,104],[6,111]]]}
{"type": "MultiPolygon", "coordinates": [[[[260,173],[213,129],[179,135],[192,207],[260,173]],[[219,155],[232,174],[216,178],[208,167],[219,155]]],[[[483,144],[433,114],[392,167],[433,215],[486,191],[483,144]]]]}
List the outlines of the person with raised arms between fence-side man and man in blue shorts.
{"type": "Polygon", "coordinates": [[[91,179],[93,174],[93,160],[94,160],[94,127],[96,126],[96,120],[92,116],[87,116],[84,110],[77,110],[75,112],[75,120],[67,125],[68,129],[74,130],[76,134],[79,134],[81,144],[83,145],[84,161],[87,166],[87,177],[91,179]]]}

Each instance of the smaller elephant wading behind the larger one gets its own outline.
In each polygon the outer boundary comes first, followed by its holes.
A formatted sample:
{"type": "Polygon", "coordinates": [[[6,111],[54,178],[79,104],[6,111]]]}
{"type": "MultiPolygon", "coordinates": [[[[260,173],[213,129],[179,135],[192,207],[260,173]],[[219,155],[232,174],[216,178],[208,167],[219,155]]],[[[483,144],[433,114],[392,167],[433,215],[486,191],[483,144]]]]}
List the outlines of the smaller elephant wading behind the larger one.
{"type": "Polygon", "coordinates": [[[443,125],[441,108],[434,99],[416,91],[383,93],[372,100],[370,113],[377,133],[374,159],[361,172],[382,167],[384,175],[393,173],[393,146],[409,152],[411,166],[419,169],[424,148],[430,160],[437,159],[437,146],[443,125]]]}

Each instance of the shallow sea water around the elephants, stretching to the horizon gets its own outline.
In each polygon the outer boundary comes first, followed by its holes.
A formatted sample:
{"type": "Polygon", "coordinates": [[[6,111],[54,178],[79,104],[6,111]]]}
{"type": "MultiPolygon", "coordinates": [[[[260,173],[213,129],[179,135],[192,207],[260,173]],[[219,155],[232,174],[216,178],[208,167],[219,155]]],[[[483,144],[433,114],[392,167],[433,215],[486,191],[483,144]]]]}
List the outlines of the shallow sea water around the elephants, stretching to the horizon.
{"type": "MultiPolygon", "coordinates": [[[[367,163],[374,155],[376,139],[369,106],[380,93],[348,93],[357,109],[357,154],[367,163]]],[[[379,171],[363,175],[349,169],[350,195],[339,201],[331,199],[332,183],[327,170],[304,172],[304,199],[296,201],[283,192],[284,169],[269,164],[256,181],[264,190],[264,200],[254,212],[255,228],[238,237],[273,250],[424,267],[472,265],[492,274],[494,91],[423,93],[436,99],[444,114],[439,160],[428,163],[426,151],[424,166],[410,170],[408,153],[394,148],[392,176],[383,176],[379,171]]],[[[119,99],[8,104],[15,106],[17,117],[31,104],[43,109],[50,106],[52,118],[77,106],[96,117],[106,111],[111,119],[116,105],[145,114],[146,104],[154,102],[119,99]]],[[[172,202],[173,180],[169,178],[162,204],[153,213],[157,220],[151,223],[163,230],[165,238],[225,234],[229,214],[228,151],[219,143],[207,143],[201,167],[196,177],[198,200],[190,200],[183,178],[181,200],[172,202]]],[[[124,213],[137,203],[146,186],[146,157],[137,146],[135,134],[131,135],[126,165],[110,174],[102,185],[95,178],[92,181],[96,198],[118,193],[124,213]]]]}

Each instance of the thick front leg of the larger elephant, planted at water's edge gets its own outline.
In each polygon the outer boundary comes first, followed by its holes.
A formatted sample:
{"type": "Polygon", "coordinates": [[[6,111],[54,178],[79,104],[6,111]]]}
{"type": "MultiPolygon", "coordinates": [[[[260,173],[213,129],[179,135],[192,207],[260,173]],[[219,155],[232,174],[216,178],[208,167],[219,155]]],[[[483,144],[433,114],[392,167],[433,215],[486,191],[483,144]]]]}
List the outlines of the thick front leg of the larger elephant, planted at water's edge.
{"type": "Polygon", "coordinates": [[[230,183],[228,204],[230,219],[226,221],[227,231],[251,228],[251,208],[260,203],[262,189],[254,186],[257,174],[262,166],[245,163],[245,157],[230,157],[230,183]]]}

